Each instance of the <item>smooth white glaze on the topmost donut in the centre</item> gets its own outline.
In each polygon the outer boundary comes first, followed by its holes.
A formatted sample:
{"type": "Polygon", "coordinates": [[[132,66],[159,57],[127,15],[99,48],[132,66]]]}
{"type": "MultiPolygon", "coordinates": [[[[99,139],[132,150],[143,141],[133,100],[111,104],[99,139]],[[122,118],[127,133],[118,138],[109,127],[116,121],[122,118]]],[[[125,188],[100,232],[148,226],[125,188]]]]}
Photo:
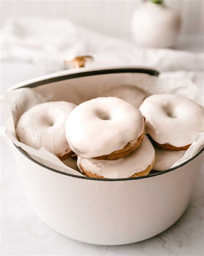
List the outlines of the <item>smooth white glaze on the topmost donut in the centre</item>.
{"type": "Polygon", "coordinates": [[[115,97],[100,97],[78,105],[65,124],[71,149],[84,158],[122,149],[144,130],[143,116],[132,104],[115,97]]]}

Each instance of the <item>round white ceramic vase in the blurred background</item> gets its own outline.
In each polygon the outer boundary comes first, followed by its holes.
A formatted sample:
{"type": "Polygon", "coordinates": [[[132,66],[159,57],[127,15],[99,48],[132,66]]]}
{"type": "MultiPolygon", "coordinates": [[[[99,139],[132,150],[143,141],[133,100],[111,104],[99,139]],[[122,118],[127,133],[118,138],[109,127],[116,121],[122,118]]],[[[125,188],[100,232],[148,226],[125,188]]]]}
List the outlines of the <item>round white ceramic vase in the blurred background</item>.
{"type": "Polygon", "coordinates": [[[160,3],[145,2],[133,14],[133,38],[141,47],[171,48],[179,35],[180,14],[163,1],[155,2],[160,3]]]}

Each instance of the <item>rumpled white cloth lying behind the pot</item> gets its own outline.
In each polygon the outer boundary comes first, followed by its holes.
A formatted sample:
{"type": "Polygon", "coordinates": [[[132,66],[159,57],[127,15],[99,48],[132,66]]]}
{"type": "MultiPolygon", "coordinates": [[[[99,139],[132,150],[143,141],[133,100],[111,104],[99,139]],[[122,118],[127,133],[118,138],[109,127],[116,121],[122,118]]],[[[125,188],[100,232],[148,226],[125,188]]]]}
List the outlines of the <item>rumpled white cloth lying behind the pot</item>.
{"type": "Polygon", "coordinates": [[[172,49],[141,49],[63,19],[12,18],[2,29],[3,60],[15,58],[42,65],[47,72],[63,69],[65,58],[92,54],[90,67],[134,65],[159,71],[203,71],[204,54],[172,49]]]}

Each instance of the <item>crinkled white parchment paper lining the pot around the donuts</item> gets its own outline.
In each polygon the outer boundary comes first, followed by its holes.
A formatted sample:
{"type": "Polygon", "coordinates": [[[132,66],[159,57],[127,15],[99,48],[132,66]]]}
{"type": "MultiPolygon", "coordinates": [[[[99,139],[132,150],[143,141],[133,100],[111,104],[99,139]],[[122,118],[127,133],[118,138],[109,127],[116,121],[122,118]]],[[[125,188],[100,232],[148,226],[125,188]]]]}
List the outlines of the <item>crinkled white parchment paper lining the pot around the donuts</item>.
{"type": "MultiPolygon", "coordinates": [[[[140,88],[146,96],[157,93],[181,94],[203,105],[202,92],[198,90],[198,87],[195,86],[192,81],[187,79],[168,76],[155,77],[139,73],[80,77],[48,83],[34,88],[20,88],[7,91],[4,95],[4,107],[7,115],[5,134],[16,146],[21,147],[34,160],[62,172],[82,176],[73,159],[67,159],[62,162],[45,148],[36,150],[22,144],[15,133],[16,124],[22,113],[39,103],[65,100],[80,104],[83,101],[101,96],[106,90],[110,89],[110,87],[119,85],[136,86],[140,88]]],[[[189,160],[203,145],[204,133],[197,134],[194,143],[186,150],[184,156],[174,163],[173,166],[189,160]]]]}

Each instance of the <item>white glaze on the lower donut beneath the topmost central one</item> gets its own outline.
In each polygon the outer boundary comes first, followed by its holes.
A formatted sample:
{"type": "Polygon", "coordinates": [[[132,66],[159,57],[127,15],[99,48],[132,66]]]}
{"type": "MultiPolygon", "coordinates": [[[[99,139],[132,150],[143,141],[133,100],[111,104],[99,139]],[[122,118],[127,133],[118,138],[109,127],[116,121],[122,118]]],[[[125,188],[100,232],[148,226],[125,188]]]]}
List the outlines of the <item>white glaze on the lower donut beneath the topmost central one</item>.
{"type": "Polygon", "coordinates": [[[129,154],[117,160],[86,159],[78,156],[77,166],[80,165],[87,171],[108,179],[128,178],[134,173],[144,171],[155,159],[155,149],[144,136],[139,147],[129,154]]]}

